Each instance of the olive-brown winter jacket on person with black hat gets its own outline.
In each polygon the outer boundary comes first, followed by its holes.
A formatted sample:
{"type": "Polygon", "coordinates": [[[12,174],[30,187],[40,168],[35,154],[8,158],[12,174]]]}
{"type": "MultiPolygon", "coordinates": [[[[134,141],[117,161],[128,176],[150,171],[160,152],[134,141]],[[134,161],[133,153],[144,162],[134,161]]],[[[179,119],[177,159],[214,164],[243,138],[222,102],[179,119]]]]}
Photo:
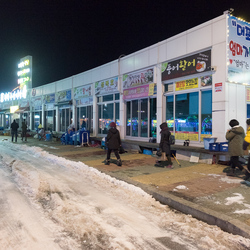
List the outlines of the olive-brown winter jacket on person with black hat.
{"type": "Polygon", "coordinates": [[[228,142],[228,152],[230,156],[242,156],[243,153],[243,141],[245,137],[244,129],[237,125],[232,127],[226,133],[226,139],[228,142]]]}

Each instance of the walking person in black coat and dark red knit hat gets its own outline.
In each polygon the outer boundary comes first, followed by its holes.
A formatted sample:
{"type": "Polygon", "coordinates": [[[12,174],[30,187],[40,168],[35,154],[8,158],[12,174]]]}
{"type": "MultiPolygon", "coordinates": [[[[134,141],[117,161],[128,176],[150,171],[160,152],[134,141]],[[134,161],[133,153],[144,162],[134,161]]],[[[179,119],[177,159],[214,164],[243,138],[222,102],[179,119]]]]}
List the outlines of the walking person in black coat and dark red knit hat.
{"type": "Polygon", "coordinates": [[[116,128],[115,122],[110,123],[110,129],[108,131],[106,146],[107,146],[107,159],[105,161],[105,165],[110,164],[110,155],[111,152],[114,151],[115,156],[117,158],[117,166],[122,165],[122,161],[118,152],[119,147],[121,147],[121,137],[120,132],[116,128]]]}

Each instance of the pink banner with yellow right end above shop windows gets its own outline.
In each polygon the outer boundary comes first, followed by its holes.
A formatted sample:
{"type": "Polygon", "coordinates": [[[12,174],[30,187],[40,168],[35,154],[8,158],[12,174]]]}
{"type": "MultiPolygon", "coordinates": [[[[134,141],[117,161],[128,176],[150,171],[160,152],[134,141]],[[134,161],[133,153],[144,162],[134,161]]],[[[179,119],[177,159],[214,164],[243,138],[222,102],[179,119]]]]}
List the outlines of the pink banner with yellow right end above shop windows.
{"type": "Polygon", "coordinates": [[[156,83],[143,85],[123,91],[123,100],[139,99],[156,94],[156,83]]]}

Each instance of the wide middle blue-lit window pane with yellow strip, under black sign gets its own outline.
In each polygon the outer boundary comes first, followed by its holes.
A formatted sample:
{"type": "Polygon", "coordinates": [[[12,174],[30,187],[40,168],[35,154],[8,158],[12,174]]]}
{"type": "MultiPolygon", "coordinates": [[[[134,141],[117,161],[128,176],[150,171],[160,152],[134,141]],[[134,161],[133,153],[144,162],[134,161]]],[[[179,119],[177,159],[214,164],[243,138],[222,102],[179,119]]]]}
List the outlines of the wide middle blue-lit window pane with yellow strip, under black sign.
{"type": "Polygon", "coordinates": [[[179,140],[198,141],[198,92],[176,95],[175,137],[179,140]]]}

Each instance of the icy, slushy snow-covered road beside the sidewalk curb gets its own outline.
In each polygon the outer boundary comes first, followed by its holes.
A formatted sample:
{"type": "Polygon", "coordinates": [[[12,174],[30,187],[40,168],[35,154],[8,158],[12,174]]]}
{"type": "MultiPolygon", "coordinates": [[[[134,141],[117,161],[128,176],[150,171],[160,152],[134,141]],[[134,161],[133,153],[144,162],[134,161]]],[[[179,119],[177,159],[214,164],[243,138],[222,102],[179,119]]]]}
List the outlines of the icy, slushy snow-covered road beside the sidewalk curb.
{"type": "Polygon", "coordinates": [[[0,142],[0,249],[250,249],[140,188],[38,147],[0,142]]]}

